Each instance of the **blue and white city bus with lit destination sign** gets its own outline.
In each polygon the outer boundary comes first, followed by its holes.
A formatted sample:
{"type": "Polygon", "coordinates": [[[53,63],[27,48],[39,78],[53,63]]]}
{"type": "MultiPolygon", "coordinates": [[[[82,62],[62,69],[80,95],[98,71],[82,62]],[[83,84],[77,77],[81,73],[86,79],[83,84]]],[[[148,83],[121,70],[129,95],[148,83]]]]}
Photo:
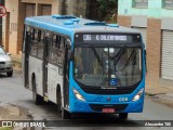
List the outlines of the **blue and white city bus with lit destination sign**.
{"type": "Polygon", "coordinates": [[[25,88],[36,104],[71,113],[142,113],[145,47],[138,30],[117,24],[52,15],[25,20],[25,88]]]}

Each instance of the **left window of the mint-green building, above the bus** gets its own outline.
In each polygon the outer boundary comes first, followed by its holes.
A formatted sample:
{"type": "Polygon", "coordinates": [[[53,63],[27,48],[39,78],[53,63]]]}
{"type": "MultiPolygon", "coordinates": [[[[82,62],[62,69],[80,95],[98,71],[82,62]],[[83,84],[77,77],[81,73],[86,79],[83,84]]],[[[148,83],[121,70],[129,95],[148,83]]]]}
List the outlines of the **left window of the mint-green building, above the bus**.
{"type": "Polygon", "coordinates": [[[148,8],[148,0],[133,0],[133,8],[148,8]]]}

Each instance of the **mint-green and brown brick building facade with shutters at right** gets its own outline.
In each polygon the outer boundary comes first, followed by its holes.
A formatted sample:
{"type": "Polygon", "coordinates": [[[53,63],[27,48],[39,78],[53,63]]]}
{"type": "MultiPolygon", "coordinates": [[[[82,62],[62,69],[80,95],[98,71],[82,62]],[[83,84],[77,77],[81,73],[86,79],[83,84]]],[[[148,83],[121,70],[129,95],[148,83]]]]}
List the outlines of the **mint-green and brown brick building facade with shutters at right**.
{"type": "Polygon", "coordinates": [[[173,87],[173,0],[119,0],[118,24],[143,35],[147,84],[173,87]]]}

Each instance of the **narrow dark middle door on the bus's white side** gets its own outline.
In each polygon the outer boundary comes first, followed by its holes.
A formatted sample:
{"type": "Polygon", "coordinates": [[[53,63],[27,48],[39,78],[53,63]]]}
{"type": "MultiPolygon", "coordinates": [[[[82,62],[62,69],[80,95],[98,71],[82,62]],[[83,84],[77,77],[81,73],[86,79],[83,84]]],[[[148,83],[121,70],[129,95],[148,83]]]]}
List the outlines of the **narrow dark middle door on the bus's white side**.
{"type": "Polygon", "coordinates": [[[48,56],[49,56],[49,37],[44,37],[44,50],[43,50],[43,63],[42,63],[42,87],[43,87],[43,98],[44,101],[48,101],[48,56]]]}

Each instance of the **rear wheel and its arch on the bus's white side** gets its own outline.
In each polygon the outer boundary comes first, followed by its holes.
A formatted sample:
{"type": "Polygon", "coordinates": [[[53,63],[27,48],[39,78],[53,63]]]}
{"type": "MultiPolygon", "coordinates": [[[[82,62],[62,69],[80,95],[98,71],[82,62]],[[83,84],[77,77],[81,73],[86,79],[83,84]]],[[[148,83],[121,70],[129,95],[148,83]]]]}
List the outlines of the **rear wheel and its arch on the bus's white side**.
{"type": "Polygon", "coordinates": [[[37,94],[37,88],[36,88],[36,79],[32,78],[32,100],[36,105],[40,105],[42,103],[42,96],[37,94]]]}

